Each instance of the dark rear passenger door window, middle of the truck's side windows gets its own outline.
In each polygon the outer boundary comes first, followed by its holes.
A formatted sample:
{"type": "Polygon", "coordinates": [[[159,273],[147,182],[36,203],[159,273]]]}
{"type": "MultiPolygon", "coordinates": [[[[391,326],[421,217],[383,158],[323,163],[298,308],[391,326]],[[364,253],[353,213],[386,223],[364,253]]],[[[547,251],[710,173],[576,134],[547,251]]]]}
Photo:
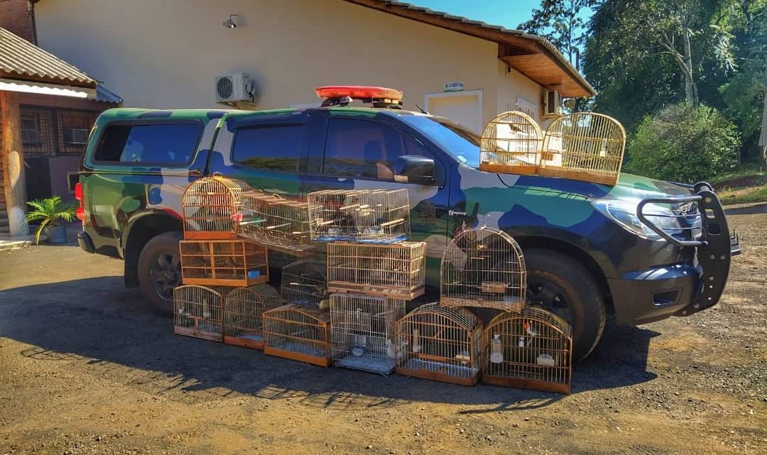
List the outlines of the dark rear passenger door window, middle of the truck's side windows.
{"type": "Polygon", "coordinates": [[[303,125],[242,128],[235,137],[232,160],[253,168],[296,172],[304,137],[303,125]]]}

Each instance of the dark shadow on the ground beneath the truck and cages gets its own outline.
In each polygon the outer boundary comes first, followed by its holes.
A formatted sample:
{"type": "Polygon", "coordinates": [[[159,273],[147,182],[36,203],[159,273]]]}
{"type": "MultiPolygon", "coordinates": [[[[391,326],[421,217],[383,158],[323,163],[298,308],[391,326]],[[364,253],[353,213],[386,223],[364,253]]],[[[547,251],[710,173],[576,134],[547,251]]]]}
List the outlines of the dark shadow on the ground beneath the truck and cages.
{"type": "MultiPolygon", "coordinates": [[[[471,406],[465,412],[540,408],[561,395],[482,385],[384,378],[318,368],[262,352],[173,335],[121,277],[22,286],[0,292],[0,336],[32,345],[19,355],[190,403],[250,395],[321,408],[387,408],[411,401],[471,406]],[[479,408],[477,408],[479,407],[479,408]],[[486,408],[482,408],[486,407],[486,408]]],[[[608,326],[596,351],[576,365],[573,392],[649,381],[647,348],[657,332],[608,326]]]]}

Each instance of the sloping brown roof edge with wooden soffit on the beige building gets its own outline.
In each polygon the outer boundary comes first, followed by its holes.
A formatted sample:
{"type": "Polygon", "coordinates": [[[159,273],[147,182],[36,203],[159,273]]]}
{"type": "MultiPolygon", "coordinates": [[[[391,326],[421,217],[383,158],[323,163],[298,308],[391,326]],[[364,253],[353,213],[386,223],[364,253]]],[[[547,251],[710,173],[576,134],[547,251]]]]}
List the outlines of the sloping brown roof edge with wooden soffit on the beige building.
{"type": "Polygon", "coordinates": [[[344,0],[391,15],[435,25],[499,44],[498,58],[548,90],[564,97],[593,97],[594,87],[547,39],[395,0],[344,0]]]}

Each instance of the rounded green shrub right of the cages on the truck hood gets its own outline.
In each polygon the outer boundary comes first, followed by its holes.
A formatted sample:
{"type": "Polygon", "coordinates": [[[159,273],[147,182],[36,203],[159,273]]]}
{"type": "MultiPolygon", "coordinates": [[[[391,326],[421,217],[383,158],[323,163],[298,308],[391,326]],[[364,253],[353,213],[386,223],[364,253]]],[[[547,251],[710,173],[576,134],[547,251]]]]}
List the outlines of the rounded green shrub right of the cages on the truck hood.
{"type": "Polygon", "coordinates": [[[646,116],[628,144],[627,172],[699,182],[737,165],[738,129],[713,107],[675,104],[646,116]]]}

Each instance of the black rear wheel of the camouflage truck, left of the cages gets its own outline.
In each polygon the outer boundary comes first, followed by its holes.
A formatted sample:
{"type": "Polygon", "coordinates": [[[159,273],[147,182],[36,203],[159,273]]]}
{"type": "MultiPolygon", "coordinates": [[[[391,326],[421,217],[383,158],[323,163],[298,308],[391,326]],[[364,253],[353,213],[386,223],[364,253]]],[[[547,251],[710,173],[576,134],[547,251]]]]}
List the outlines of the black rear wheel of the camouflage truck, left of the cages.
{"type": "Polygon", "coordinates": [[[179,231],[158,234],[146,242],[139,254],[138,278],[144,298],[158,312],[173,313],[173,288],[181,284],[179,231]]]}

